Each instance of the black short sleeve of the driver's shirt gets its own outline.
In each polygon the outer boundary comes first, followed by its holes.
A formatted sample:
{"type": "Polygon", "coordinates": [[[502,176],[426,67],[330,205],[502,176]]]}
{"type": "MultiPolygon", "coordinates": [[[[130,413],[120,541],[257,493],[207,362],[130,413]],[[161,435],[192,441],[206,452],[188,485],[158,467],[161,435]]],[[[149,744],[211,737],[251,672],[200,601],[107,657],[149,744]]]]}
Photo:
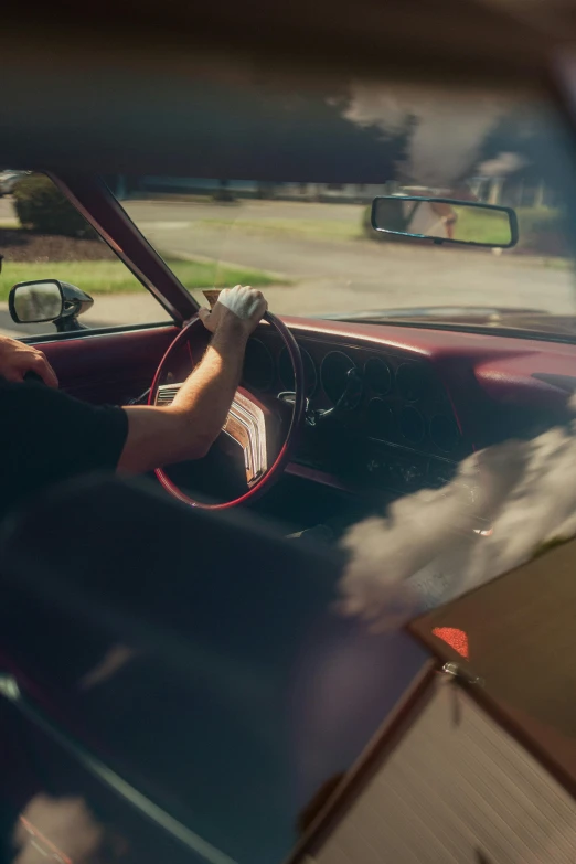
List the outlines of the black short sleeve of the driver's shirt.
{"type": "Polygon", "coordinates": [[[128,434],[118,407],[43,384],[0,383],[0,515],[52,483],[116,469],[128,434]]]}

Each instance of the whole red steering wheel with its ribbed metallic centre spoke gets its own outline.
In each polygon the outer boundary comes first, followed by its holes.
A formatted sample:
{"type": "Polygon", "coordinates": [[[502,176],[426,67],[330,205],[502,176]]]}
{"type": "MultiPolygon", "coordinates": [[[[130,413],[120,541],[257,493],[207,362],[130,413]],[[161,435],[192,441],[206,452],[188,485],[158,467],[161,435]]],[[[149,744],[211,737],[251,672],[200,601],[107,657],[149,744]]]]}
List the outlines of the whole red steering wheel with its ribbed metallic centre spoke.
{"type": "MultiPolygon", "coordinates": [[[[179,501],[183,501],[184,504],[203,508],[205,510],[227,510],[228,508],[254,501],[256,498],[264,494],[264,492],[266,492],[280,477],[290,459],[306,405],[302,355],[300,354],[300,349],[296,339],[279,318],[276,318],[271,312],[266,312],[264,320],[278,331],[292,364],[295,396],[290,419],[287,420],[286,415],[282,416],[280,410],[282,406],[286,406],[286,403],[281,403],[280,405],[278,399],[267,399],[266,396],[258,398],[244,387],[238,387],[223,426],[223,433],[242,448],[244,465],[246,467],[248,491],[232,501],[225,501],[218,504],[203,503],[186,495],[185,492],[179,489],[179,487],[168,477],[166,471],[161,468],[157,468],[156,476],[162,487],[174,498],[178,498],[179,501]],[[282,435],[284,444],[279,446],[278,439],[281,439],[282,435]]],[[[150,393],[148,395],[149,405],[157,405],[162,402],[170,403],[173,399],[180,385],[162,385],[160,382],[178,349],[184,343],[188,343],[194,330],[203,327],[204,324],[200,318],[198,318],[198,316],[194,317],[184,328],[182,328],[180,333],[170,344],[156,371],[152,386],[150,387],[150,393]]]]}

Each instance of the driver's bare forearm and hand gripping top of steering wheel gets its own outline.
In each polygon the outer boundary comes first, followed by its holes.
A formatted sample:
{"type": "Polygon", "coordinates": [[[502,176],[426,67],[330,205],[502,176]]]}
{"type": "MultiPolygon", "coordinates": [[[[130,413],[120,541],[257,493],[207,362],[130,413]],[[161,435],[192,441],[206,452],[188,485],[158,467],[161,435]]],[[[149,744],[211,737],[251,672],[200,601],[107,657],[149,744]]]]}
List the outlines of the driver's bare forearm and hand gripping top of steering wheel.
{"type": "Polygon", "coordinates": [[[200,459],[215,441],[238,386],[248,337],[267,309],[253,288],[222,291],[212,312],[199,314],[214,337],[201,363],[168,406],[134,406],[118,462],[125,473],[200,459]]]}

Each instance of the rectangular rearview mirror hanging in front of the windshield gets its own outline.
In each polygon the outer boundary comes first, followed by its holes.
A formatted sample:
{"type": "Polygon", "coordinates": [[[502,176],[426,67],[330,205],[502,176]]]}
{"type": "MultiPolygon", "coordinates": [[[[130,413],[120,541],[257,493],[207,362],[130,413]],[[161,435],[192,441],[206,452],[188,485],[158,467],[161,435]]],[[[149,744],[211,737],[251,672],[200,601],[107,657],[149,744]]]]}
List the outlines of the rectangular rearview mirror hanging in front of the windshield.
{"type": "Polygon", "coordinates": [[[510,207],[448,198],[382,195],[372,204],[372,227],[386,234],[508,249],[518,243],[510,207]]]}

